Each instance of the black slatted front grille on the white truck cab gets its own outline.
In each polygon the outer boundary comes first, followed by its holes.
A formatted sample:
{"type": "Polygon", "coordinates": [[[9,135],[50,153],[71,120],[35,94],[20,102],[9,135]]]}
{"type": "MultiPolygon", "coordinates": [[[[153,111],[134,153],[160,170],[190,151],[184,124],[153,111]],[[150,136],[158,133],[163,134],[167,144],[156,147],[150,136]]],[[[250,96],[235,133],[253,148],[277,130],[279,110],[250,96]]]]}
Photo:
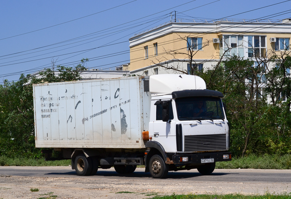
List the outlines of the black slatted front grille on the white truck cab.
{"type": "Polygon", "coordinates": [[[185,135],[184,139],[185,152],[226,150],[226,134],[185,135]]]}

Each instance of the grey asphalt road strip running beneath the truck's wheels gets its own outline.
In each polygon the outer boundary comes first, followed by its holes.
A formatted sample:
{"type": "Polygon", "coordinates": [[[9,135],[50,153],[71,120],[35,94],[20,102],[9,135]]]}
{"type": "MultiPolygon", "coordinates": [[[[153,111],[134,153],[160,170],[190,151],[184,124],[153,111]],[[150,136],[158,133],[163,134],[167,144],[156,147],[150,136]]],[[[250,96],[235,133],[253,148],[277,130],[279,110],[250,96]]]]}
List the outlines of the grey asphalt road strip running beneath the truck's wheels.
{"type": "MultiPolygon", "coordinates": [[[[71,167],[0,167],[0,175],[26,177],[70,177],[80,178],[71,167]]],[[[146,179],[152,178],[144,168],[137,168],[132,174],[121,175],[111,169],[99,169],[95,176],[82,178],[104,179],[146,179]]],[[[208,182],[291,182],[291,170],[272,169],[215,169],[209,176],[202,176],[196,169],[170,171],[164,180],[191,180],[208,182]]]]}

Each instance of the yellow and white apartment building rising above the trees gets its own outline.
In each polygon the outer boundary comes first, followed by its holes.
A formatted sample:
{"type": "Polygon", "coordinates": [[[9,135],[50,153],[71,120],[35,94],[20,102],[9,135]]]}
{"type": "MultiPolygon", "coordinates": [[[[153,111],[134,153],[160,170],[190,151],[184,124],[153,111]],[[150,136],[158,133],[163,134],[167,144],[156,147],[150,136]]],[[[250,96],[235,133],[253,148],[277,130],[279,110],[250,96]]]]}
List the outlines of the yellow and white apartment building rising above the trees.
{"type": "Polygon", "coordinates": [[[255,60],[271,51],[290,50],[290,37],[291,19],[175,19],[129,39],[129,70],[136,75],[187,73],[191,58],[198,70],[211,68],[225,51],[223,58],[237,55],[255,60]]]}

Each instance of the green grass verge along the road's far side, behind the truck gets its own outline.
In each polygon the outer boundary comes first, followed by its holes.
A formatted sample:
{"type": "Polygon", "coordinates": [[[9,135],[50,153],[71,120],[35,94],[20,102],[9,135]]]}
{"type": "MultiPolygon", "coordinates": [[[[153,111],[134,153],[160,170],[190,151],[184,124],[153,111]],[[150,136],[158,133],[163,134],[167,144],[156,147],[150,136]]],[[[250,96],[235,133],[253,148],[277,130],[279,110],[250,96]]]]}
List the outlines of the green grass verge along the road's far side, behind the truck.
{"type": "MultiPolygon", "coordinates": [[[[45,161],[44,159],[8,158],[0,156],[0,166],[69,166],[71,160],[45,161]]],[[[139,165],[138,168],[144,168],[139,165]]],[[[229,162],[216,162],[216,169],[291,169],[291,155],[248,155],[229,162]]]]}

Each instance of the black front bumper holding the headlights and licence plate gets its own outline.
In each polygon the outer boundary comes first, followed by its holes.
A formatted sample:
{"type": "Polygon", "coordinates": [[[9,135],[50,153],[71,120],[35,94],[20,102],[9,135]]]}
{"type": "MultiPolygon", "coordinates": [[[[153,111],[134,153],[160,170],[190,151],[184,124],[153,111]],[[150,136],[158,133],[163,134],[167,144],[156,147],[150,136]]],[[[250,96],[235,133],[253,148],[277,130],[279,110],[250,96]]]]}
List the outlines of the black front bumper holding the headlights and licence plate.
{"type": "Polygon", "coordinates": [[[214,162],[231,161],[231,152],[214,153],[195,153],[195,154],[175,154],[173,155],[174,164],[201,164],[201,159],[214,158],[214,162]],[[223,155],[229,155],[229,159],[223,159],[223,155]],[[181,162],[181,157],[188,157],[187,162],[181,162]]]}

